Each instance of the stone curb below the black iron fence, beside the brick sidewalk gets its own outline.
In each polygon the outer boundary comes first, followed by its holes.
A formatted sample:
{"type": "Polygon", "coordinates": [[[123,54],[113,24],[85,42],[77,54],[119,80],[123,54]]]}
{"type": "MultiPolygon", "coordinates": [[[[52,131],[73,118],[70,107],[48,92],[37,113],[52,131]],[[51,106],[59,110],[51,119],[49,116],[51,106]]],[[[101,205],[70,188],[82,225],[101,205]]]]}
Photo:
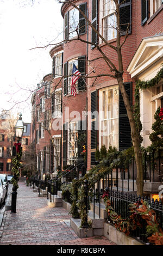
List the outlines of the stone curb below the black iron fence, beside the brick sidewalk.
{"type": "Polygon", "coordinates": [[[117,245],[143,245],[140,241],[118,231],[109,223],[104,223],[104,236],[117,245]]]}

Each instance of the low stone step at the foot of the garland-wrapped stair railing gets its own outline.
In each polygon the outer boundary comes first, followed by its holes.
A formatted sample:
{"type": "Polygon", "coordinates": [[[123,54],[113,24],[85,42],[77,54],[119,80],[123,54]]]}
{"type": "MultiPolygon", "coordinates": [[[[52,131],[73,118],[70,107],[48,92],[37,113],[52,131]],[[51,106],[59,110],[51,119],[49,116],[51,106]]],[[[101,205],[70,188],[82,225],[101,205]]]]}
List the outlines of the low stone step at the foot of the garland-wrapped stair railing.
{"type": "Polygon", "coordinates": [[[85,229],[85,228],[80,228],[81,225],[81,219],[80,218],[71,218],[70,224],[74,232],[80,237],[80,238],[85,238],[85,237],[92,237],[93,236],[93,229],[85,229]]]}

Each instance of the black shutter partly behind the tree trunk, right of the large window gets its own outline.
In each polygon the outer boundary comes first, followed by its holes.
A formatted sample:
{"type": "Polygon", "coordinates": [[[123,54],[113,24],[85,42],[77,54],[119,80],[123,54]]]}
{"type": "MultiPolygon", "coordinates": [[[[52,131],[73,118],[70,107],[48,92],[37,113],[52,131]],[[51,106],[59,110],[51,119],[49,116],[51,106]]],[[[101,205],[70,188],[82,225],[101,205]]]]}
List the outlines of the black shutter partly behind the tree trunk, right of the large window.
{"type": "MultiPolygon", "coordinates": [[[[130,103],[132,95],[131,85],[131,82],[124,83],[130,103]]],[[[123,150],[129,147],[131,147],[131,129],[123,97],[121,92],[119,92],[119,148],[123,150]]]]}

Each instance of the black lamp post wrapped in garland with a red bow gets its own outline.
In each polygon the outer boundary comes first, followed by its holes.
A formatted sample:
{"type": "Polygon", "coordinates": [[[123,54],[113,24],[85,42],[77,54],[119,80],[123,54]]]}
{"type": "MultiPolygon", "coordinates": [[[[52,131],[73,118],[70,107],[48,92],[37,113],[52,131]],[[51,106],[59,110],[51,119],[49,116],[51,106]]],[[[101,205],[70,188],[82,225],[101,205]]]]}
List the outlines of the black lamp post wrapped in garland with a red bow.
{"type": "Polygon", "coordinates": [[[24,125],[22,121],[22,114],[20,114],[19,119],[17,120],[17,123],[15,125],[15,137],[17,138],[16,145],[16,157],[12,160],[13,162],[13,187],[12,187],[12,193],[11,193],[11,213],[16,212],[16,198],[17,198],[17,181],[18,181],[18,173],[20,169],[20,159],[21,159],[21,138],[24,131],[24,125]]]}

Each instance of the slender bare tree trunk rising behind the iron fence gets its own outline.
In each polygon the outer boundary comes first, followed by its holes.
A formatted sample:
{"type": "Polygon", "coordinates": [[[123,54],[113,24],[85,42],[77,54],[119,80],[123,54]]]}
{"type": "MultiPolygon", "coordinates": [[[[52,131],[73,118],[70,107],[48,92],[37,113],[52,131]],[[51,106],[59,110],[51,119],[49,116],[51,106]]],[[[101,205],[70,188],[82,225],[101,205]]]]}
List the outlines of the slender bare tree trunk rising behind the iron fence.
{"type": "Polygon", "coordinates": [[[117,77],[117,81],[118,81],[119,88],[122,93],[124,105],[126,106],[128,119],[129,119],[129,123],[130,123],[130,127],[131,127],[131,139],[133,142],[134,153],[135,153],[135,162],[136,162],[136,167],[137,167],[137,178],[136,178],[137,196],[143,196],[143,163],[142,163],[142,153],[140,150],[141,145],[140,145],[140,141],[139,141],[139,133],[136,129],[133,111],[130,106],[128,95],[124,88],[122,75],[117,77]]]}

